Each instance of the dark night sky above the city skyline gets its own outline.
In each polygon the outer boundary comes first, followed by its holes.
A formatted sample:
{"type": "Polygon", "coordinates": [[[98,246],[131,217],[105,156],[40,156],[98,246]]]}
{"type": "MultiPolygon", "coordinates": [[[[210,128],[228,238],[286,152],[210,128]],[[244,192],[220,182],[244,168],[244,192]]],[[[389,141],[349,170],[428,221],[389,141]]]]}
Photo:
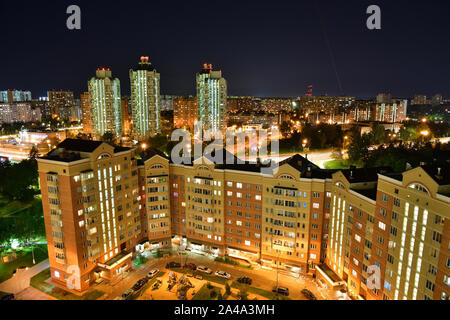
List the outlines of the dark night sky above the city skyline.
{"type": "Polygon", "coordinates": [[[210,62],[229,95],[299,96],[312,84],[314,95],[450,97],[449,15],[448,0],[0,0],[0,90],[78,95],[105,66],[129,95],[128,71],[146,55],[161,94],[195,94],[210,62]],[[71,4],[81,31],[66,28],[71,4]],[[382,30],[366,28],[371,4],[382,30]]]}

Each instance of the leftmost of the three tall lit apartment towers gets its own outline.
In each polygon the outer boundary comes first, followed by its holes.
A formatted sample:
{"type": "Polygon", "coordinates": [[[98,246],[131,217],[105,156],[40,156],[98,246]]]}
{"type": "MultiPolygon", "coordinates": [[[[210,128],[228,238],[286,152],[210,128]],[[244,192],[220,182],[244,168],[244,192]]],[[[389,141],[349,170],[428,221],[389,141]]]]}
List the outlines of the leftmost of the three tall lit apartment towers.
{"type": "Polygon", "coordinates": [[[122,136],[122,101],[120,81],[112,78],[111,69],[99,68],[88,82],[92,108],[93,133],[96,137],[112,132],[122,136]]]}

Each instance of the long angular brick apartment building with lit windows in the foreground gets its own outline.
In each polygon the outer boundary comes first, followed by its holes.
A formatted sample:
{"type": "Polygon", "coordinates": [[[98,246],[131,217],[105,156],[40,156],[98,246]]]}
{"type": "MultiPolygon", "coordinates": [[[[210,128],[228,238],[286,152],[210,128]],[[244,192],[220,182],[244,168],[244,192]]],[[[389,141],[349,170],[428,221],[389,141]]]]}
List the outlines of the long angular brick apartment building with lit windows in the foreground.
{"type": "Polygon", "coordinates": [[[68,268],[77,266],[81,292],[98,277],[118,281],[136,246],[176,243],[294,273],[317,272],[325,285],[343,280],[366,299],[450,294],[449,166],[403,174],[331,171],[296,155],[263,174],[256,163],[214,164],[202,157],[177,165],[153,150],[138,155],[71,139],[38,162],[52,278],[66,285],[68,268]],[[373,264],[382,271],[378,291],[364,283],[365,266],[373,264]]]}

